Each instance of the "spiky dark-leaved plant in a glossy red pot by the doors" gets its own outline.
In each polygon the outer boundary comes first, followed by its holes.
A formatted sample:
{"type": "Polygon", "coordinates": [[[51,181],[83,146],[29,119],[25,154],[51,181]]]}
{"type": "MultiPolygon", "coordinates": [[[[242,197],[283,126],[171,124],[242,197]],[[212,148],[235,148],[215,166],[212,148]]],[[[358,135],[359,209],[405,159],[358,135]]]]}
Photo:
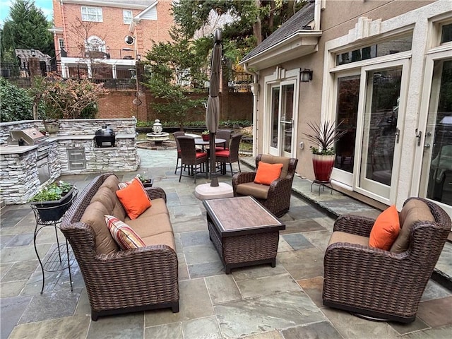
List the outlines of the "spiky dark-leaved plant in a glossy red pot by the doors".
{"type": "Polygon", "coordinates": [[[308,122],[308,126],[313,133],[303,133],[308,140],[319,147],[311,146],[312,165],[314,176],[317,182],[330,182],[331,172],[333,172],[335,150],[334,143],[338,141],[347,130],[341,131],[338,127],[343,123],[340,121],[324,121],[323,124],[308,122]]]}

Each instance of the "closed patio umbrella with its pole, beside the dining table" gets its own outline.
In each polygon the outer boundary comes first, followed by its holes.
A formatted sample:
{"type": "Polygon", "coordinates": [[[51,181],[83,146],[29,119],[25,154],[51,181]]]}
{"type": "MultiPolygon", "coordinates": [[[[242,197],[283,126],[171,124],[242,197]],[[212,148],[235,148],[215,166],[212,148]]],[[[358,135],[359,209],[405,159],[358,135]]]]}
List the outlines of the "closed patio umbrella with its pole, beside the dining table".
{"type": "Polygon", "coordinates": [[[218,179],[215,175],[215,133],[218,129],[220,119],[220,66],[221,66],[221,30],[215,30],[215,40],[213,43],[212,61],[210,64],[210,85],[209,97],[206,109],[206,126],[210,132],[210,186],[218,186],[218,179]]]}

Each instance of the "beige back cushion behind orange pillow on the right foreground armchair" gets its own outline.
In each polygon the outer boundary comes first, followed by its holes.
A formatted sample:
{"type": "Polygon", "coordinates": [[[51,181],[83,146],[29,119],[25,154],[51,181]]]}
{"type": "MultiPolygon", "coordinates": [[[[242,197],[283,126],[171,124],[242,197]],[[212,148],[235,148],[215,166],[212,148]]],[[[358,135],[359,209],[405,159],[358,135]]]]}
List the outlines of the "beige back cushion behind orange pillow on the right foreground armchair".
{"type": "Polygon", "coordinates": [[[391,252],[402,253],[410,246],[410,233],[417,221],[435,221],[429,206],[424,201],[412,199],[400,211],[400,233],[391,246],[391,252]]]}

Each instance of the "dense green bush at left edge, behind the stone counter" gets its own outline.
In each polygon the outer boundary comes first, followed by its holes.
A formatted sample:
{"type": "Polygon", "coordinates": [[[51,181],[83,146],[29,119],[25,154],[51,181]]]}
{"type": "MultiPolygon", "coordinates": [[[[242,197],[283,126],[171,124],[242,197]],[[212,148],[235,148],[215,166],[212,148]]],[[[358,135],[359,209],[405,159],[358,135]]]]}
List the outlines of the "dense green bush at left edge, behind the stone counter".
{"type": "Polygon", "coordinates": [[[0,121],[31,120],[33,100],[27,90],[0,78],[0,121]]]}

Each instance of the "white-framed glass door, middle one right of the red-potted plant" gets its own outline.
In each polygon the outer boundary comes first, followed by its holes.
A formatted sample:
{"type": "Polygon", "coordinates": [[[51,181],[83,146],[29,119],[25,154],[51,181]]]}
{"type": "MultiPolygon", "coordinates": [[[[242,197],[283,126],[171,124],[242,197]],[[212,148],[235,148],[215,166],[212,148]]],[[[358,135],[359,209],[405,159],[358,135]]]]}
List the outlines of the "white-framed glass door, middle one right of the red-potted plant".
{"type": "MultiPolygon", "coordinates": [[[[400,95],[403,93],[403,66],[363,69],[364,95],[359,176],[356,190],[389,203],[395,197],[400,159],[400,95]]],[[[403,111],[402,111],[403,112],[403,111]]],[[[401,119],[400,119],[401,118],[401,119]]]]}

